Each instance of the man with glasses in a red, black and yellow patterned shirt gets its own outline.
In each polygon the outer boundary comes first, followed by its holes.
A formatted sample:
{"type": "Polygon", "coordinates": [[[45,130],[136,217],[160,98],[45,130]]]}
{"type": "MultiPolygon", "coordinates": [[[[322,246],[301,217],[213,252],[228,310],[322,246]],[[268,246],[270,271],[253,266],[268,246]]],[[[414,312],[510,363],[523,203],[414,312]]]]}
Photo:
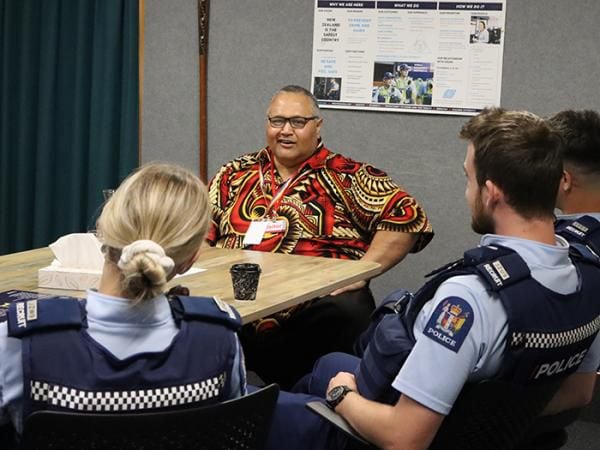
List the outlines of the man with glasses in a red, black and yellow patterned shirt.
{"type": "MultiPolygon", "coordinates": [[[[306,89],[275,94],[267,146],[229,162],[210,183],[211,245],[376,261],[386,271],[428,244],[432,229],[417,201],[384,172],[329,151],[322,123],[306,89]]],[[[288,387],[318,356],[350,351],[373,306],[360,281],[246,326],[248,367],[288,387]]]]}

